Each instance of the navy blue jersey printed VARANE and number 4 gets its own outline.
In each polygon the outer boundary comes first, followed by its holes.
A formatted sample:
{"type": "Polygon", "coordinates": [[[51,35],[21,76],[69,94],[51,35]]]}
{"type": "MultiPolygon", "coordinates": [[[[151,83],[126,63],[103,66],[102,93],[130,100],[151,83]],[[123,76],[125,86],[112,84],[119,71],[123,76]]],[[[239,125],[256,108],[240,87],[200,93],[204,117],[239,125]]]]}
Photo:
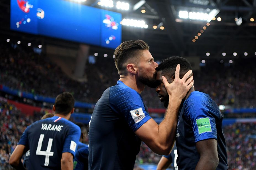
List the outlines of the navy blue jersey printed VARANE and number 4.
{"type": "Polygon", "coordinates": [[[77,125],[54,116],[28,126],[18,144],[30,150],[28,168],[61,169],[62,153],[69,152],[74,156],[80,135],[77,125]]]}

